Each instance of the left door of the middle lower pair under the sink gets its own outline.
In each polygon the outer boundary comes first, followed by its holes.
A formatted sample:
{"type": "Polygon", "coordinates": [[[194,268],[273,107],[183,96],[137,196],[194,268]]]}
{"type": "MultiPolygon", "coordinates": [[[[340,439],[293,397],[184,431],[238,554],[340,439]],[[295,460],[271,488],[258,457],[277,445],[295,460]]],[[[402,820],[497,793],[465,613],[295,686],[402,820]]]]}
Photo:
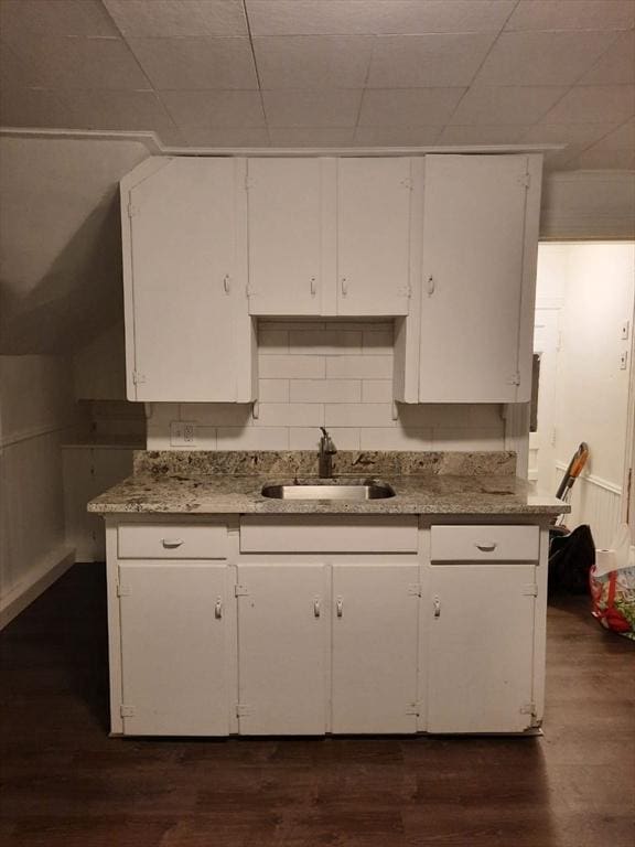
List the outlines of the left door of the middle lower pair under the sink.
{"type": "Polygon", "coordinates": [[[244,735],[326,731],[329,613],[322,565],[239,565],[238,722],[244,735]]]}

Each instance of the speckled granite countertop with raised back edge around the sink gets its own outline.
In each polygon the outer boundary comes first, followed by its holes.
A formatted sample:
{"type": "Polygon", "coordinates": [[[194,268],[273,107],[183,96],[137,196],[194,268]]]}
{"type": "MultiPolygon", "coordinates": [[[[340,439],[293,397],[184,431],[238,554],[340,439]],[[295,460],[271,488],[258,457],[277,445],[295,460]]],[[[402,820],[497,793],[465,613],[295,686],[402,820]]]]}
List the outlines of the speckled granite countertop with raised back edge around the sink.
{"type": "MultiPolygon", "coordinates": [[[[265,483],[319,484],[315,454],[138,451],[134,474],[88,504],[101,514],[543,515],[570,507],[515,474],[514,453],[359,453],[335,459],[335,483],[388,483],[396,496],[370,501],[271,500],[265,483]]],[[[321,481],[333,484],[332,480],[321,481]]]]}

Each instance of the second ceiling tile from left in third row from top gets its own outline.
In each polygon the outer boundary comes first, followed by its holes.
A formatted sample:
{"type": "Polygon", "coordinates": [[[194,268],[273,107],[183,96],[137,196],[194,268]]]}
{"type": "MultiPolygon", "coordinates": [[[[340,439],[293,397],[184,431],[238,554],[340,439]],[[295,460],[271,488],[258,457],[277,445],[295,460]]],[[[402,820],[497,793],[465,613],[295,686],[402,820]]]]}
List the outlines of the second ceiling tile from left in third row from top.
{"type": "Polygon", "coordinates": [[[60,92],[82,129],[155,130],[174,126],[154,92],[60,92]]]}

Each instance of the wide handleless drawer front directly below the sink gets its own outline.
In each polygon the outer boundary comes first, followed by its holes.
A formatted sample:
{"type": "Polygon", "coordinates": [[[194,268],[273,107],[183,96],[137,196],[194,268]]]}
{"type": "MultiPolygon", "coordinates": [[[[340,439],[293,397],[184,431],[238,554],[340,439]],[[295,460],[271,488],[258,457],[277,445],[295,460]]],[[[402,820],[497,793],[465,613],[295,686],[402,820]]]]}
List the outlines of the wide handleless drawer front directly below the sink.
{"type": "Polygon", "coordinates": [[[241,553],[417,553],[418,518],[246,515],[241,553]]]}

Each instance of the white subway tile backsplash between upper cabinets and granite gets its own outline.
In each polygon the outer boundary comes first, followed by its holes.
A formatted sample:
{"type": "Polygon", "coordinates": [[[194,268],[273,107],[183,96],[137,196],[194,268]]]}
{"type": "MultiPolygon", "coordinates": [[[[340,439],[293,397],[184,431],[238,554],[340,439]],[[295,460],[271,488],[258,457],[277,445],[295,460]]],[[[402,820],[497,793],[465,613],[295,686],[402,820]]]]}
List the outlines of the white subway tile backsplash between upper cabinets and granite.
{"type": "Polygon", "coordinates": [[[148,449],[312,450],[320,426],[341,450],[502,450],[498,404],[392,405],[387,321],[260,320],[259,403],[152,404],[148,449]],[[173,421],[195,441],[171,443],[173,421]]]}

